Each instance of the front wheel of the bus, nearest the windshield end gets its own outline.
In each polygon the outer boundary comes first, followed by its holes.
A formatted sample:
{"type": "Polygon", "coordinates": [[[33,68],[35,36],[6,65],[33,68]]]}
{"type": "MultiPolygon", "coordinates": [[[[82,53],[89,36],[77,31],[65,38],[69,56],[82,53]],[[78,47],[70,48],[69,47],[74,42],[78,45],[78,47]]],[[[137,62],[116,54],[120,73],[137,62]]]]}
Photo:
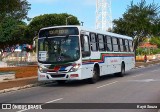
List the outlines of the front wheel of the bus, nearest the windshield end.
{"type": "Polygon", "coordinates": [[[93,76],[89,79],[90,84],[94,84],[99,80],[99,70],[97,67],[94,67],[93,69],[93,76]]]}

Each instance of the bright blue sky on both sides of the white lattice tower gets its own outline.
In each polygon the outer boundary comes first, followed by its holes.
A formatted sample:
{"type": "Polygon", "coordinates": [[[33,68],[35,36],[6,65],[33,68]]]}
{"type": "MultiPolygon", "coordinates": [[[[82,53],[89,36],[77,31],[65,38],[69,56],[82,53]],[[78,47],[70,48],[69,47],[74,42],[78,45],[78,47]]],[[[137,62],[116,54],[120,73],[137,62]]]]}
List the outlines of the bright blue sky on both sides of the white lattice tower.
{"type": "MultiPolygon", "coordinates": [[[[30,18],[43,14],[68,13],[76,16],[83,26],[95,28],[96,0],[27,0],[31,4],[30,18]]],[[[119,19],[126,12],[132,0],[111,0],[112,20],[119,19]]],[[[141,0],[133,0],[134,3],[141,0]]],[[[146,0],[147,3],[159,3],[159,0],[146,0]]],[[[159,4],[160,5],[160,4],[159,4]]]]}

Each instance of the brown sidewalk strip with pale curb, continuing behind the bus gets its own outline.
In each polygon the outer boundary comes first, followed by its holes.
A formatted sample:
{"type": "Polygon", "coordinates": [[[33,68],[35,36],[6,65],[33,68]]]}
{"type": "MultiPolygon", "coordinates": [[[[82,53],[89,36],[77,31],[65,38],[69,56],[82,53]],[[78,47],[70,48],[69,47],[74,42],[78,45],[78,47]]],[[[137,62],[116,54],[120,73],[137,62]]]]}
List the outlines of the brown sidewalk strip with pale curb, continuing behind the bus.
{"type": "MultiPolygon", "coordinates": [[[[149,65],[160,64],[160,60],[149,61],[147,63],[144,62],[136,62],[135,68],[146,67],[149,65]]],[[[38,82],[37,77],[28,77],[14,80],[6,80],[0,82],[0,94],[10,91],[16,91],[20,89],[30,88],[34,86],[39,86],[45,84],[42,82],[38,82]]]]}

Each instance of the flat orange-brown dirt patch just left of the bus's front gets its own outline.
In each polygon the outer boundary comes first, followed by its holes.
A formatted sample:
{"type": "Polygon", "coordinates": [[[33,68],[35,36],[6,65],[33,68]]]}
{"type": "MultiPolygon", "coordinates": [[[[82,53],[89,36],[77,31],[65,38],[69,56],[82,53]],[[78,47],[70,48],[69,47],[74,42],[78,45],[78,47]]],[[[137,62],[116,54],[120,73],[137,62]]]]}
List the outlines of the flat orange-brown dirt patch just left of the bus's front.
{"type": "Polygon", "coordinates": [[[0,68],[0,72],[15,72],[16,78],[37,76],[37,66],[0,68]]]}

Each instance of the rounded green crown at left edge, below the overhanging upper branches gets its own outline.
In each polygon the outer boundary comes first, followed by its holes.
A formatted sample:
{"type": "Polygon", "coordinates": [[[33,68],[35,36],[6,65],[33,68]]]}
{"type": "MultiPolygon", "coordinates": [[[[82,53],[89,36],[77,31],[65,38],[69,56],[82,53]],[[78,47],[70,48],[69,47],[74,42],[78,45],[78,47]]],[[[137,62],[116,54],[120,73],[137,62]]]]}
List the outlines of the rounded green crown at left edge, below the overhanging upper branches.
{"type": "Polygon", "coordinates": [[[0,49],[20,44],[24,40],[26,24],[12,17],[5,18],[0,24],[0,49]]]}

